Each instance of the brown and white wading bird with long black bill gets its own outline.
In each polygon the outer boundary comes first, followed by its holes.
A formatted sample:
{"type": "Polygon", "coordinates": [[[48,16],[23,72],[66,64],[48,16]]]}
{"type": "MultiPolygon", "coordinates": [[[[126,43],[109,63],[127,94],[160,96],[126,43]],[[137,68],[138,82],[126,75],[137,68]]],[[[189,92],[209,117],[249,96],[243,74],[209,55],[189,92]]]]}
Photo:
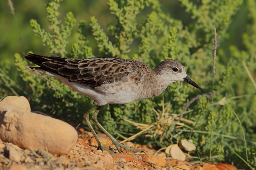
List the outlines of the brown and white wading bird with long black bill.
{"type": "Polygon", "coordinates": [[[110,151],[110,146],[116,146],[133,152],[144,152],[132,149],[121,144],[98,122],[97,115],[100,108],[106,104],[126,104],[135,100],[158,96],[173,82],[183,81],[204,90],[188,78],[184,66],[178,61],[167,59],[162,61],[155,69],[150,69],[145,63],[137,60],[94,57],[84,59],[71,59],[54,55],[36,55],[27,53],[24,56],[28,61],[39,67],[30,69],[61,80],[71,89],[93,100],[91,107],[84,113],[83,119],[91,130],[98,143],[98,149],[110,151]],[[91,117],[92,122],[104,132],[112,141],[106,148],[100,141],[90,124],[89,114],[98,105],[91,117]]]}

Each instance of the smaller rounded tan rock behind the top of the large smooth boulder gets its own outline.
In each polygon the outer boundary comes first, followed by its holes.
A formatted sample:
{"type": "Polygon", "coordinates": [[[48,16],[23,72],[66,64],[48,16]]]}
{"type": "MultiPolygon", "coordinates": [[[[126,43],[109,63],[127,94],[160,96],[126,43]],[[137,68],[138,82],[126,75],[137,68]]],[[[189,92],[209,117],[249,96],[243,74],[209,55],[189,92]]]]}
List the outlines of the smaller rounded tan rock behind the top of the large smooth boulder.
{"type": "Polygon", "coordinates": [[[4,99],[0,99],[0,103],[2,102],[8,103],[15,108],[24,109],[28,112],[31,111],[29,102],[24,96],[7,96],[4,99]]]}

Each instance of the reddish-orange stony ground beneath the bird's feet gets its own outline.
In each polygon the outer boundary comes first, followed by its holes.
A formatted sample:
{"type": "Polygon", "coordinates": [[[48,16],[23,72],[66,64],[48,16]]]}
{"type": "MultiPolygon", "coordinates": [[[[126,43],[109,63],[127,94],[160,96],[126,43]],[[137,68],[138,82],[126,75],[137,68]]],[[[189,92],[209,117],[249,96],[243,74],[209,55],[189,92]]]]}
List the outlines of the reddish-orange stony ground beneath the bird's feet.
{"type": "MultiPolygon", "coordinates": [[[[12,143],[3,142],[0,139],[0,169],[219,170],[221,167],[224,167],[222,168],[223,170],[236,169],[235,166],[228,164],[194,164],[188,161],[172,159],[170,157],[166,158],[164,152],[156,153],[155,150],[149,149],[146,145],[133,144],[131,142],[126,142],[124,144],[131,148],[145,151],[147,154],[142,155],[143,159],[140,154],[124,150],[123,148],[120,148],[123,153],[110,154],[106,151],[102,152],[101,150],[97,150],[91,132],[85,131],[84,128],[79,128],[77,131],[79,136],[76,145],[65,155],[52,155],[42,149],[37,151],[23,149],[12,143]],[[154,162],[155,165],[152,164],[154,162]]],[[[117,152],[114,148],[111,148],[111,151],[117,152]]]]}

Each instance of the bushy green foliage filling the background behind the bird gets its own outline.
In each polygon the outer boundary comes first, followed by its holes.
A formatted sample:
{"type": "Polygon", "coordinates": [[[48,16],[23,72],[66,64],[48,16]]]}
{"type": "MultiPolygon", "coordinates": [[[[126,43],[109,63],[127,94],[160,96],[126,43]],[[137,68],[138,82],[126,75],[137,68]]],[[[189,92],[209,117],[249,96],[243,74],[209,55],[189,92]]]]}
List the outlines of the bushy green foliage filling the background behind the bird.
{"type": "MultiPolygon", "coordinates": [[[[169,11],[164,11],[157,0],[109,0],[108,6],[115,21],[108,23],[108,31],[104,31],[105,27],[101,26],[97,17],[91,17],[88,20],[89,24],[85,20],[79,22],[76,33],[72,32],[72,29],[76,28],[76,19],[72,12],[66,14],[64,24],[60,25],[58,12],[60,1],[46,3],[50,32],[42,29],[43,26],[40,26],[35,19],[30,20],[35,35],[50,48],[49,54],[68,55],[72,58],[96,56],[136,59],[151,68],[156,67],[163,60],[172,58],[185,66],[188,77],[195,80],[207,94],[212,91],[213,24],[215,24],[218,49],[213,87],[216,94],[213,105],[211,102],[207,103],[208,99],[203,97],[191,104],[183,115],[187,120],[198,121],[199,126],[187,122],[183,122],[185,125],[182,128],[177,128],[174,123],[162,124],[163,126],[155,128],[159,131],[163,130],[163,134],[153,135],[154,131],[147,131],[143,137],[138,137],[135,141],[157,143],[164,147],[177,143],[180,138],[187,138],[191,133],[190,130],[193,129],[194,132],[190,137],[197,144],[197,152],[200,153],[198,156],[201,158],[209,156],[211,152],[214,158],[212,161],[225,160],[237,164],[240,158],[236,156],[236,152],[252,166],[256,164],[255,143],[250,142],[256,141],[254,119],[256,89],[243,65],[244,62],[255,79],[256,3],[254,0],[246,1],[248,22],[242,35],[244,46],[241,48],[228,44],[228,49],[223,49],[222,44],[230,36],[235,36],[229,35],[228,30],[232,17],[243,3],[242,0],[180,0],[183,7],[181,9],[185,9],[183,12],[191,16],[190,23],[186,25],[183,25],[182,20],[169,14],[169,11]],[[145,11],[148,12],[147,15],[145,11]],[[89,38],[91,34],[98,46],[97,55],[94,52],[95,47],[91,45],[89,38]],[[71,45],[70,52],[67,52],[69,36],[74,37],[75,42],[71,45]],[[227,50],[230,54],[228,56],[227,50]],[[237,114],[243,129],[239,126],[232,110],[237,114]],[[213,134],[212,144],[210,131],[213,134]],[[243,140],[239,140],[243,139],[243,131],[246,140],[249,141],[247,147],[243,140]],[[234,148],[234,151],[230,147],[234,148]],[[245,150],[248,152],[248,160],[245,150]]],[[[29,98],[32,110],[41,110],[66,121],[82,122],[82,114],[92,101],[52,77],[40,75],[35,71],[31,73],[26,69],[27,65],[30,64],[23,57],[15,54],[15,66],[19,71],[16,83],[8,78],[6,74],[8,68],[0,70],[0,84],[4,87],[0,89],[0,97],[11,94],[24,95],[29,98]]],[[[125,105],[104,106],[100,110],[99,121],[111,134],[128,137],[139,132],[140,129],[136,129],[122,118],[144,124],[159,123],[152,108],[161,113],[163,98],[164,106],[169,108],[168,115],[178,117],[183,113],[188,101],[198,94],[201,92],[192,86],[177,82],[169,85],[164,93],[152,99],[134,101],[125,105]]],[[[196,155],[197,152],[194,154],[196,155]]]]}

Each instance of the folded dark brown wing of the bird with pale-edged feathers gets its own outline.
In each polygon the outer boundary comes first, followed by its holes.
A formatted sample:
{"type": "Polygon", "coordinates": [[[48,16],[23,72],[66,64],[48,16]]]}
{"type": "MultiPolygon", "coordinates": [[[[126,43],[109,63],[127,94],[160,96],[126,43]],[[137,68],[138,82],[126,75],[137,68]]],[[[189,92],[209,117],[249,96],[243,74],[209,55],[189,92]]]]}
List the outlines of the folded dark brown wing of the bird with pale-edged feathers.
{"type": "Polygon", "coordinates": [[[40,69],[53,72],[69,81],[96,87],[103,82],[112,83],[121,80],[140,67],[150,69],[146,64],[136,60],[119,58],[70,59],[58,56],[26,54],[26,59],[40,66],[40,69]],[[140,67],[138,67],[140,63],[140,67]]]}

